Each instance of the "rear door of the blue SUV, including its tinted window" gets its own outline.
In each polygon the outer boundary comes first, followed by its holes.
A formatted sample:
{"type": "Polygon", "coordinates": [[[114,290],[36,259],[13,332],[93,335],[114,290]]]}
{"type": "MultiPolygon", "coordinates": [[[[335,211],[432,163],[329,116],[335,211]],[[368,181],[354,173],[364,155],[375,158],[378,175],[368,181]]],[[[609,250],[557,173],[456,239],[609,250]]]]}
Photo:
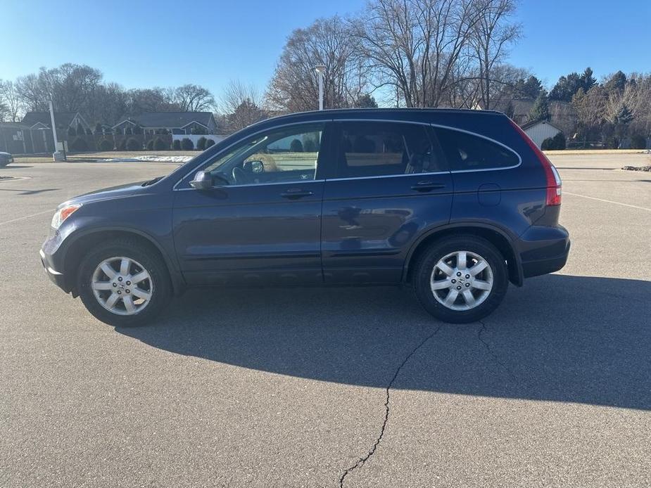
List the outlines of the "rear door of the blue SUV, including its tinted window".
{"type": "Polygon", "coordinates": [[[430,130],[334,122],[322,212],[326,283],[398,283],[419,233],[448,223],[453,184],[430,130]]]}

